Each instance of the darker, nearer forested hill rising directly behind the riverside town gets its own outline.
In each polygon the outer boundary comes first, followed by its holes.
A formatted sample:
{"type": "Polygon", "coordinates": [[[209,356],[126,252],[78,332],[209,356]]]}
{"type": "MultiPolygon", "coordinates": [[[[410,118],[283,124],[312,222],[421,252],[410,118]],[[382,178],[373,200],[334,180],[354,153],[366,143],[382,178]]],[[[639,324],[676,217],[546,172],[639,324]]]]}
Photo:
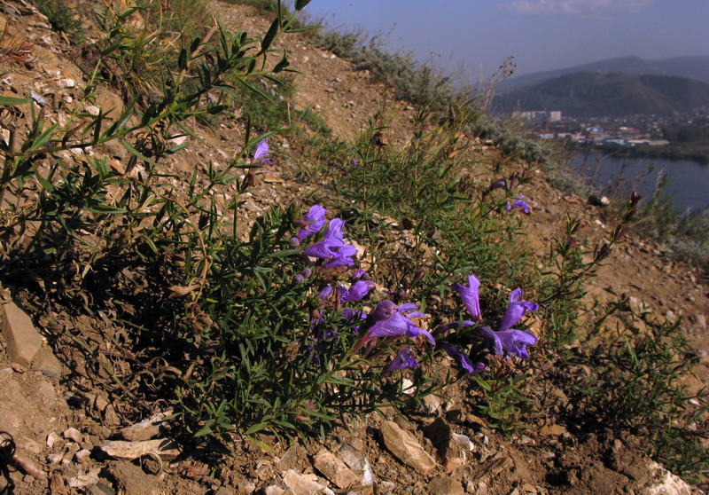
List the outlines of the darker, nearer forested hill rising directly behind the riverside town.
{"type": "Polygon", "coordinates": [[[495,111],[561,110],[566,116],[673,115],[709,109],[709,84],[669,75],[580,72],[498,95],[495,111]]]}

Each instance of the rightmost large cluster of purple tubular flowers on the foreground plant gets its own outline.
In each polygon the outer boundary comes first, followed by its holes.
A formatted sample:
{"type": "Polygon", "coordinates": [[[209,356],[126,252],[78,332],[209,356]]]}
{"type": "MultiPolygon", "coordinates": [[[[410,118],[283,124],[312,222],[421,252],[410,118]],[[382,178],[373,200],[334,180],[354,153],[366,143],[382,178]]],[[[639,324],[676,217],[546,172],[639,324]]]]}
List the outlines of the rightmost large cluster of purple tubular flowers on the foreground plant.
{"type": "MultiPolygon", "coordinates": [[[[465,308],[471,313],[475,321],[464,320],[460,323],[456,322],[444,326],[443,330],[449,330],[450,328],[459,326],[475,326],[476,322],[482,320],[479,305],[480,281],[475,275],[471,275],[468,277],[468,285],[469,287],[455,284],[453,290],[456,290],[456,292],[460,294],[465,308]]],[[[517,325],[518,322],[524,318],[527,311],[539,309],[538,303],[523,301],[523,295],[524,292],[522,292],[521,288],[516,288],[512,291],[510,294],[510,303],[507,306],[507,310],[504,313],[497,331],[489,326],[479,326],[474,330],[485,339],[487,349],[495,355],[517,356],[518,358],[526,359],[529,358],[526,346],[537,343],[537,337],[532,332],[512,328],[512,326],[517,325]]],[[[440,347],[448,353],[448,356],[456,359],[458,364],[468,373],[476,373],[485,368],[484,363],[481,361],[475,362],[471,355],[459,350],[451,343],[443,343],[440,347]]]]}

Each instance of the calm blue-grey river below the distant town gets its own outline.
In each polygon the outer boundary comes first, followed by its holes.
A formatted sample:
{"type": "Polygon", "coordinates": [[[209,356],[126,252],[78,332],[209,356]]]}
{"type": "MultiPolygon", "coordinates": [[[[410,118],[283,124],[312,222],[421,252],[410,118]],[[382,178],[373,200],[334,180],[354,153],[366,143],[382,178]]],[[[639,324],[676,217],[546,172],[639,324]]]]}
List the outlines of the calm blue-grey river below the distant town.
{"type": "Polygon", "coordinates": [[[672,198],[675,208],[709,208],[709,165],[698,161],[625,158],[587,150],[575,153],[570,166],[605,194],[627,195],[635,189],[647,198],[656,190],[658,177],[666,177],[662,193],[672,198]]]}

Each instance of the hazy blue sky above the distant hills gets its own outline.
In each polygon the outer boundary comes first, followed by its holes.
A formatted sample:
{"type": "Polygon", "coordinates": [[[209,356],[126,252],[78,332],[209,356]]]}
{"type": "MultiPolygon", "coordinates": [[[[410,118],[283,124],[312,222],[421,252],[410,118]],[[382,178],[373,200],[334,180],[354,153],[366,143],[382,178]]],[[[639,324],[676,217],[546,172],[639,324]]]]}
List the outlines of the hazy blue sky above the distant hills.
{"type": "Polygon", "coordinates": [[[709,55],[709,0],[312,0],[340,31],[385,35],[390,50],[477,81],[514,55],[516,75],[636,55],[709,55]]]}

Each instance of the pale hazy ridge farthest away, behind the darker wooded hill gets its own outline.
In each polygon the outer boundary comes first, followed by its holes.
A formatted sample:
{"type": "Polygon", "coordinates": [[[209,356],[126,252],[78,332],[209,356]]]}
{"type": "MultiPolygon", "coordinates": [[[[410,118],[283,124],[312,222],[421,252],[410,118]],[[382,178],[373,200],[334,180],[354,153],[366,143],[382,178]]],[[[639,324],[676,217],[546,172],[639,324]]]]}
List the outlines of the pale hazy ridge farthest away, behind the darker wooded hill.
{"type": "Polygon", "coordinates": [[[706,57],[671,57],[669,59],[644,60],[639,57],[619,57],[604,59],[580,66],[566,67],[546,72],[510,77],[497,88],[498,94],[519,90],[526,86],[543,83],[561,75],[577,72],[601,72],[619,74],[654,74],[678,75],[709,83],[709,56],[706,57]]]}

